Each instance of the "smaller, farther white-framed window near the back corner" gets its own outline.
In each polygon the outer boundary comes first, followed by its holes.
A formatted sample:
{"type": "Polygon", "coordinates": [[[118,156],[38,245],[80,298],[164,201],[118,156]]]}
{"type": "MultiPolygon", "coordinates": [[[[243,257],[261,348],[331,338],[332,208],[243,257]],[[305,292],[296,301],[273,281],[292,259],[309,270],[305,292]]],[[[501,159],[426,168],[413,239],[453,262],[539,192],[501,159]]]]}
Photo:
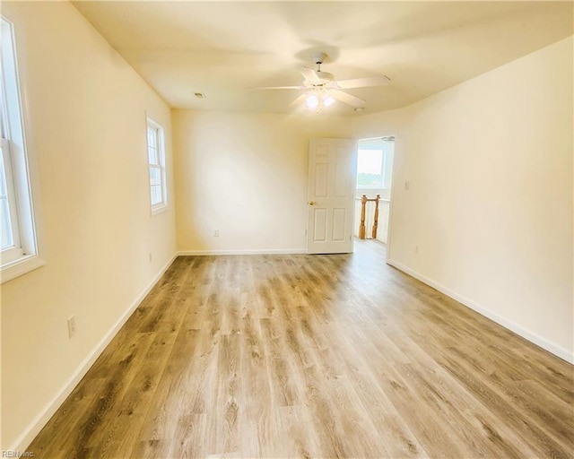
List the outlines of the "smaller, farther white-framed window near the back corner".
{"type": "Polygon", "coordinates": [[[168,195],[165,178],[163,127],[150,118],[147,118],[147,157],[150,166],[152,215],[155,215],[167,209],[168,195]]]}

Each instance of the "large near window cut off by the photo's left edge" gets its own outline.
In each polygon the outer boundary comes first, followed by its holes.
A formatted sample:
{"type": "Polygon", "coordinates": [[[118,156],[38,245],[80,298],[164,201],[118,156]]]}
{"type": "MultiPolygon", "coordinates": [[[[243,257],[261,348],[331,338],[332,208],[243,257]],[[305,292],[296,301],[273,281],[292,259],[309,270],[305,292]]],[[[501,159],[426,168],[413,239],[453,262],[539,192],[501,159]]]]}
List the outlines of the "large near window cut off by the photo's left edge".
{"type": "Polygon", "coordinates": [[[0,18],[0,268],[2,281],[45,264],[38,256],[13,25],[0,18]]]}

